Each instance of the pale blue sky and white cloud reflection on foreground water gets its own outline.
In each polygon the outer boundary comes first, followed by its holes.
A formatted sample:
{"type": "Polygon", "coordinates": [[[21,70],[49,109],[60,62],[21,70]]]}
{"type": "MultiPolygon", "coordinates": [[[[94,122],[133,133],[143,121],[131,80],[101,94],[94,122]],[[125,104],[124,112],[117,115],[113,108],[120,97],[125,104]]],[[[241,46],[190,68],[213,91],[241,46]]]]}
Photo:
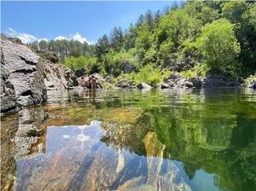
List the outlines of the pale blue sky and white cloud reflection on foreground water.
{"type": "MultiPolygon", "coordinates": [[[[114,129],[113,124],[110,125],[110,129],[114,129]]],[[[46,155],[48,155],[48,157],[45,158],[45,156],[43,156],[43,158],[49,160],[54,159],[58,153],[64,150],[66,152],[64,152],[62,156],[63,159],[60,160],[65,161],[66,158],[68,160],[71,157],[72,160],[76,160],[76,163],[82,165],[82,167],[83,158],[86,159],[88,154],[93,157],[100,155],[102,164],[112,160],[112,162],[109,163],[113,163],[113,166],[115,166],[114,168],[112,167],[113,169],[111,170],[113,174],[124,174],[122,179],[119,180],[119,183],[113,184],[113,188],[118,188],[119,184],[124,184],[127,181],[134,180],[136,177],[143,176],[148,178],[152,177],[153,181],[155,179],[155,182],[161,185],[160,187],[168,187],[168,183],[177,182],[175,183],[177,188],[184,188],[183,185],[187,184],[185,187],[186,190],[190,188],[192,188],[192,190],[218,190],[218,187],[214,185],[214,176],[207,174],[205,171],[196,171],[192,180],[189,180],[186,173],[183,171],[182,163],[157,157],[147,158],[144,155],[131,153],[125,147],[116,149],[113,148],[111,144],[107,146],[105,142],[100,142],[102,136],[106,136],[106,132],[102,129],[100,121],[92,121],[90,125],[49,126],[47,128],[46,138],[46,155]],[[161,165],[158,166],[159,164],[161,165]],[[154,171],[154,169],[159,170],[154,171]],[[149,175],[148,172],[151,174],[149,175]]],[[[66,163],[58,162],[60,164],[66,163]]],[[[47,165],[44,164],[44,159],[35,159],[32,164],[34,164],[34,168],[37,168],[37,166],[41,168],[47,165]]],[[[17,165],[19,173],[22,174],[19,163],[17,163],[17,165]]],[[[85,167],[86,169],[90,169],[90,166],[86,165],[85,167]]],[[[44,171],[38,170],[39,176],[40,173],[44,174],[47,172],[45,172],[45,169],[44,171]]],[[[77,180],[77,182],[79,181],[81,180],[77,180]]],[[[144,183],[145,185],[147,183],[152,184],[152,181],[144,183]]],[[[137,185],[138,189],[143,187],[142,184],[137,185]]]]}

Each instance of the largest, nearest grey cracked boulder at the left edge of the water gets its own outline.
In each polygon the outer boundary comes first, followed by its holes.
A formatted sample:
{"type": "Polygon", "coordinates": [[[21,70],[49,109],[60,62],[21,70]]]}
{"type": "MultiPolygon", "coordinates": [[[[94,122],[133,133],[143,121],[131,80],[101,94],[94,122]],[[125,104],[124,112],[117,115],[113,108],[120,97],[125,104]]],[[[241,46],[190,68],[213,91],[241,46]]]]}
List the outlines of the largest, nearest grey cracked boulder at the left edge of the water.
{"type": "Polygon", "coordinates": [[[46,101],[44,67],[26,45],[1,38],[1,113],[46,101]]]}

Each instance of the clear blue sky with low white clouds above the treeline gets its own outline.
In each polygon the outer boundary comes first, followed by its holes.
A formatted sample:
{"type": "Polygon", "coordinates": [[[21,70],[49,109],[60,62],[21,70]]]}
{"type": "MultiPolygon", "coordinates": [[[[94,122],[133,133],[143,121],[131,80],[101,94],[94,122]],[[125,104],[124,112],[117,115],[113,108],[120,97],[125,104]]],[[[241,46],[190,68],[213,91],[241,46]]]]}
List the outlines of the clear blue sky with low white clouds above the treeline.
{"type": "Polygon", "coordinates": [[[68,38],[96,42],[114,26],[135,23],[148,9],[172,2],[2,2],[1,32],[30,41],[68,38]]]}

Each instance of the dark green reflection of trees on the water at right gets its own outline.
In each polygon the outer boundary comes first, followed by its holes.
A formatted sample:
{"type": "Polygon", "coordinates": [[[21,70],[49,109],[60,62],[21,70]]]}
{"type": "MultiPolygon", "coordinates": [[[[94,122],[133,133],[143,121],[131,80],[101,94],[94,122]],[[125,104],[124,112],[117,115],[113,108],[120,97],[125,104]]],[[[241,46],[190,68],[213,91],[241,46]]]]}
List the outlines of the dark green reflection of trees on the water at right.
{"type": "Polygon", "coordinates": [[[182,161],[189,179],[203,169],[217,175],[213,183],[221,189],[256,188],[256,120],[227,111],[216,116],[211,108],[198,113],[194,107],[195,119],[184,115],[193,107],[147,111],[152,130],[166,145],[164,157],[182,161]]]}

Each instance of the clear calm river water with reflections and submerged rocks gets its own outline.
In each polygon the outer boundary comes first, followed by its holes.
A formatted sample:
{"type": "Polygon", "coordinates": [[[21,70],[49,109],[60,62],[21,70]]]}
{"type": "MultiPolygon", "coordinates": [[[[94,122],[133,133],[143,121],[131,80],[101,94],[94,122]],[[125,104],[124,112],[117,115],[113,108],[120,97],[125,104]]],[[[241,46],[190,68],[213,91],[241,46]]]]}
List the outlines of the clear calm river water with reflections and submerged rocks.
{"type": "Polygon", "coordinates": [[[2,190],[256,190],[256,91],[49,94],[1,121],[2,190]]]}

